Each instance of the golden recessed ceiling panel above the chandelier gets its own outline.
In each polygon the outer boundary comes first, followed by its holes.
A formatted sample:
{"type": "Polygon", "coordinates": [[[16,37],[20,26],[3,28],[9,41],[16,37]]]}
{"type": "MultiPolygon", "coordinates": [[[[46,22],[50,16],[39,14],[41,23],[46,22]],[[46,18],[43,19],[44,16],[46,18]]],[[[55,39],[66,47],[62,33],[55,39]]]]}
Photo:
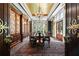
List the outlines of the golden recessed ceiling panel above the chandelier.
{"type": "Polygon", "coordinates": [[[35,16],[36,14],[47,16],[54,3],[26,3],[26,5],[28,6],[32,16],[35,16]]]}

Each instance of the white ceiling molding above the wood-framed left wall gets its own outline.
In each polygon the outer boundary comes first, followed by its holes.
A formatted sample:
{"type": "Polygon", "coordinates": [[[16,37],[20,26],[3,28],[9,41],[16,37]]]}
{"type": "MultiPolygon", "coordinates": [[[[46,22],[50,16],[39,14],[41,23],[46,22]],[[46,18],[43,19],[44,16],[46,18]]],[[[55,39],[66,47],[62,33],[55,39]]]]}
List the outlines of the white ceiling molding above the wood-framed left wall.
{"type": "Polygon", "coordinates": [[[10,5],[14,6],[23,15],[28,16],[30,18],[30,20],[32,20],[30,11],[28,10],[27,6],[25,7],[25,5],[23,3],[11,3],[10,5]]]}

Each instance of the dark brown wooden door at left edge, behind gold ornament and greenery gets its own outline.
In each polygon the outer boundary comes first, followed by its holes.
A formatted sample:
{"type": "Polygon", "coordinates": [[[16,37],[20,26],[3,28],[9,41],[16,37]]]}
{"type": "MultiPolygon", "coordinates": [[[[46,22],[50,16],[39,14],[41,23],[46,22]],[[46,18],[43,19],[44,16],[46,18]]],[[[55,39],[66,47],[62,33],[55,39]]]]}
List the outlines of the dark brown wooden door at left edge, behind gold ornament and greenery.
{"type": "MultiPolygon", "coordinates": [[[[0,18],[3,20],[3,23],[9,24],[9,4],[0,3],[0,18]]],[[[4,38],[9,34],[9,29],[6,29],[6,32],[3,31],[3,34],[0,35],[0,55],[9,55],[10,51],[5,48],[4,38]]]]}

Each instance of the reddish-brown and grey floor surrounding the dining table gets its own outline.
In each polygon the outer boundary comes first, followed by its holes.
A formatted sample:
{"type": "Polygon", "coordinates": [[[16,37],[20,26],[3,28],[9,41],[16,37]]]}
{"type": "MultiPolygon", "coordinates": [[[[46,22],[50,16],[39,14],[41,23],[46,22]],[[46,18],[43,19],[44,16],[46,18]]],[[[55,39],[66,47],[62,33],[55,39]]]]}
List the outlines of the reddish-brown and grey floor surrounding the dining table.
{"type": "Polygon", "coordinates": [[[65,45],[63,42],[57,41],[51,38],[50,48],[45,47],[43,49],[32,48],[29,45],[29,37],[25,38],[22,43],[11,49],[11,56],[64,56],[65,45]]]}

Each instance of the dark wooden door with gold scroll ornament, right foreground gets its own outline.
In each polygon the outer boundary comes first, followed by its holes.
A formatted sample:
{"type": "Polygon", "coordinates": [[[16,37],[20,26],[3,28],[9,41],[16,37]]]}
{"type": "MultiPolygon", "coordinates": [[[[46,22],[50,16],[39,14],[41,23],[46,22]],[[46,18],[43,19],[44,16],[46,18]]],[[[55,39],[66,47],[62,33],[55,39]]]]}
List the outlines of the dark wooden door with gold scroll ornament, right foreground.
{"type": "Polygon", "coordinates": [[[79,46],[79,28],[73,27],[78,25],[79,5],[77,3],[66,4],[66,36],[67,42],[65,44],[66,55],[79,55],[76,50],[79,46]],[[75,48],[75,49],[74,49],[75,48]],[[74,51],[74,52],[73,52],[74,51]]]}

